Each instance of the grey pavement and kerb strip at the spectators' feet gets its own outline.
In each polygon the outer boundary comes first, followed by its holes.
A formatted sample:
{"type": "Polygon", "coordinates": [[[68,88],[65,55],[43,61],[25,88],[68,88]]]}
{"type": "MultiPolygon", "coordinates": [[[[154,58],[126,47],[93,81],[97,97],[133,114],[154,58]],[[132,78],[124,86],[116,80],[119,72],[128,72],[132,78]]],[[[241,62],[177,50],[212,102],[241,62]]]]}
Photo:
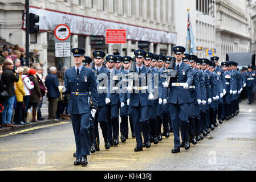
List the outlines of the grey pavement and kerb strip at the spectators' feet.
{"type": "Polygon", "coordinates": [[[42,125],[48,125],[51,123],[60,123],[62,121],[67,121],[67,120],[62,120],[60,121],[54,121],[53,119],[48,119],[48,101],[47,98],[44,98],[44,104],[41,108],[41,113],[42,117],[44,118],[44,121],[39,121],[38,123],[32,123],[29,122],[27,125],[15,125],[15,127],[3,127],[0,128],[0,135],[5,134],[5,133],[10,133],[11,131],[19,131],[23,129],[29,129],[31,127],[36,127],[36,126],[42,126],[42,125]]]}

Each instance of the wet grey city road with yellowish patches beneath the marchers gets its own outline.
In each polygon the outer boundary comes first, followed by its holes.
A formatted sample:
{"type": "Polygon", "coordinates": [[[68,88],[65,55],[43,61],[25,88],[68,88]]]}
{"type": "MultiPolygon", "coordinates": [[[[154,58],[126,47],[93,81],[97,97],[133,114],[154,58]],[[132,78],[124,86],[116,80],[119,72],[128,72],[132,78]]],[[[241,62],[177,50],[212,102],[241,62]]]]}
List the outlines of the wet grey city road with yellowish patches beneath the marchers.
{"type": "MultiPolygon", "coordinates": [[[[100,128],[100,127],[99,127],[100,128]]],[[[173,133],[159,144],[134,152],[136,139],[104,148],[100,133],[100,151],[88,156],[88,166],[74,166],[75,138],[70,121],[0,135],[0,170],[26,171],[172,171],[256,169],[256,104],[240,104],[237,117],[224,121],[204,140],[188,151],[172,154],[173,133]]],[[[120,140],[120,139],[119,139],[120,140]]]]}

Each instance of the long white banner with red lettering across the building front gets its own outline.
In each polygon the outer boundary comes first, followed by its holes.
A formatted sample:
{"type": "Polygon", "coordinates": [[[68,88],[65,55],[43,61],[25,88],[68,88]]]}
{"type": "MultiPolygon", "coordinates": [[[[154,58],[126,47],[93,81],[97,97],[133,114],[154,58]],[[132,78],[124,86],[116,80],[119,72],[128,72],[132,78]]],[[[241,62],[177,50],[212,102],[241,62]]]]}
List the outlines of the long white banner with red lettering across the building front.
{"type": "MultiPolygon", "coordinates": [[[[138,27],[130,24],[111,22],[87,16],[68,14],[61,11],[30,7],[30,13],[40,16],[40,31],[54,31],[55,24],[69,24],[71,34],[84,36],[105,36],[107,29],[124,29],[127,31],[127,40],[148,41],[153,43],[176,44],[177,34],[173,32],[155,30],[147,27],[138,27]]],[[[23,28],[26,28],[23,23],[23,28]]]]}

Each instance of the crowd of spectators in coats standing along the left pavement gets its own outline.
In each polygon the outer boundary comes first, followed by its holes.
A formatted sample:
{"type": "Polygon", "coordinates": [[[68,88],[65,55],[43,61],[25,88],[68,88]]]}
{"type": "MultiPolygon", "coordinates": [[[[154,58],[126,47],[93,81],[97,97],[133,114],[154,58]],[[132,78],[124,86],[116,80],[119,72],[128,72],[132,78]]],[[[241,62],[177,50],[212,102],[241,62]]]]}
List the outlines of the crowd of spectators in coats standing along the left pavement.
{"type": "Polygon", "coordinates": [[[42,117],[41,108],[47,100],[48,119],[70,119],[69,96],[60,98],[58,90],[66,69],[57,71],[56,67],[51,67],[44,76],[38,50],[34,50],[26,66],[25,48],[0,47],[0,127],[43,121],[46,118],[42,117]],[[31,111],[31,121],[27,119],[28,111],[31,111]]]}

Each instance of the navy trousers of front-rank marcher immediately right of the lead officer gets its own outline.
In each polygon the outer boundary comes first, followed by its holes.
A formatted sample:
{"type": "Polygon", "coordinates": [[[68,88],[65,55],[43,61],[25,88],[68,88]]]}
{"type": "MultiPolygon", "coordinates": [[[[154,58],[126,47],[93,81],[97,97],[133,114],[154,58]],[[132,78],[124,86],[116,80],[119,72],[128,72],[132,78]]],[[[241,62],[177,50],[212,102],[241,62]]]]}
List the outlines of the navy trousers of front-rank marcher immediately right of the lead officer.
{"type": "Polygon", "coordinates": [[[109,140],[108,125],[107,125],[107,122],[108,122],[107,111],[108,111],[108,106],[99,106],[98,111],[95,114],[94,131],[95,131],[95,140],[96,140],[95,142],[97,147],[100,146],[99,123],[100,123],[100,128],[102,130],[104,141],[107,142],[107,140],[109,140]]]}

